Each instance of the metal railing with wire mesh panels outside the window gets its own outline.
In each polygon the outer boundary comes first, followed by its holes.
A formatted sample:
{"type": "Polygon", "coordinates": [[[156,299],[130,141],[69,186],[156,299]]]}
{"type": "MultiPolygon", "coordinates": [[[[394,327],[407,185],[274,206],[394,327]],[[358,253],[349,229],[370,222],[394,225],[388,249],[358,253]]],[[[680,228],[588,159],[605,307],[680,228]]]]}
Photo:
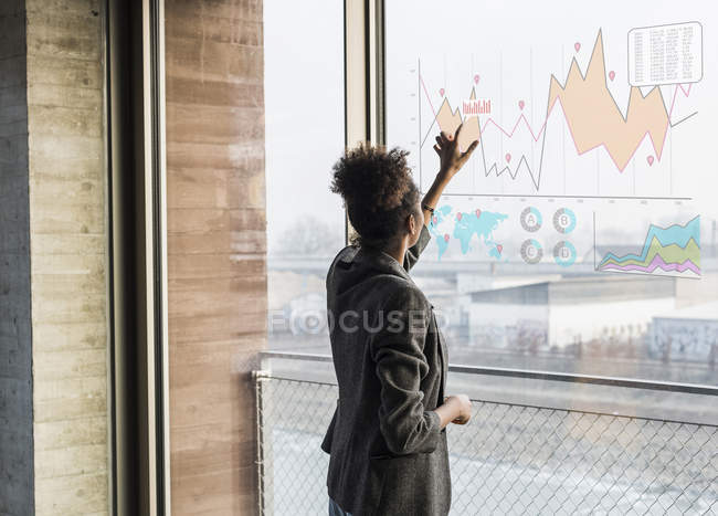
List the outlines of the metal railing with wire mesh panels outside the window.
{"type": "MultiPolygon", "coordinates": [[[[330,361],[265,352],[263,358],[330,361]]],[[[580,381],[718,397],[718,388],[516,369],[462,373],[580,381]]],[[[261,513],[326,514],[319,444],[337,387],[255,371],[261,513]]],[[[718,398],[716,398],[718,400],[718,398]]],[[[718,514],[718,425],[472,400],[447,430],[452,514],[718,514]]]]}

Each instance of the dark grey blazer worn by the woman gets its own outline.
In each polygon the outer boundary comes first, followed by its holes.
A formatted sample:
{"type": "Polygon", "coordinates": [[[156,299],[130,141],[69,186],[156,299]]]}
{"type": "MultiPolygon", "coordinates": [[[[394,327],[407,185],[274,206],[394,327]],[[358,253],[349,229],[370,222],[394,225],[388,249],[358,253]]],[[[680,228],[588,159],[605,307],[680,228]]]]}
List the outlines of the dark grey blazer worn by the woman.
{"type": "Polygon", "coordinates": [[[451,505],[444,399],[446,351],[433,306],[408,271],[430,240],[425,227],[403,266],[348,246],[327,275],[339,399],[321,449],[329,496],[352,515],[445,515],[451,505]]]}

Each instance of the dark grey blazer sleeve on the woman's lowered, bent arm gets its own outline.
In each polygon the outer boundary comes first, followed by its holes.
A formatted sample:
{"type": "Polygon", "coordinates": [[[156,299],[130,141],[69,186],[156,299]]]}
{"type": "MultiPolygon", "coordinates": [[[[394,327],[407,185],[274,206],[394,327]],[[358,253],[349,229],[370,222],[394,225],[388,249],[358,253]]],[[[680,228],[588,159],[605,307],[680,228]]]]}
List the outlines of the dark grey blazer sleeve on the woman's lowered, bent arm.
{"type": "Polygon", "coordinates": [[[403,288],[384,306],[382,328],[371,340],[381,383],[379,428],[391,453],[431,453],[441,439],[441,421],[425,410],[420,390],[429,372],[423,348],[430,312],[423,296],[403,288]]]}

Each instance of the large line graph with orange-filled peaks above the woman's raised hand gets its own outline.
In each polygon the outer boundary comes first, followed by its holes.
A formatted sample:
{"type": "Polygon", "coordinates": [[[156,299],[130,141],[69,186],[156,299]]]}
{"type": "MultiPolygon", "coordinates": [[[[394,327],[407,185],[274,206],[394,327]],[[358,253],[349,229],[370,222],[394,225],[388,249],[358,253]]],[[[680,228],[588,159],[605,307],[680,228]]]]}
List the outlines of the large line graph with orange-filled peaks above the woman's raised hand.
{"type": "MultiPolygon", "coordinates": [[[[532,125],[527,118],[524,106],[511,124],[503,125],[495,116],[485,117],[472,116],[462,117],[460,103],[452,107],[448,97],[442,91],[442,102],[439,109],[435,108],[430,94],[431,88],[426,84],[426,78],[421,73],[421,61],[418,63],[418,91],[425,98],[431,110],[431,124],[426,129],[421,126],[422,101],[419,101],[420,110],[420,154],[424,148],[426,140],[432,133],[440,130],[446,133],[455,131],[460,124],[464,123],[464,128],[460,136],[460,146],[466,148],[473,140],[479,141],[476,150],[478,168],[484,178],[506,176],[511,180],[526,176],[530,179],[531,191],[522,193],[521,197],[553,197],[551,193],[542,192],[541,187],[543,175],[546,173],[547,151],[547,127],[556,113],[562,114],[562,122],[568,129],[568,140],[571,141],[577,156],[584,156],[590,151],[603,149],[605,155],[611,159],[615,172],[622,175],[630,164],[636,159],[636,152],[644,145],[650,144],[651,152],[646,156],[647,167],[658,166],[665,159],[666,141],[673,128],[691,119],[698,114],[694,110],[689,114],[679,114],[675,116],[676,105],[680,99],[688,99],[691,94],[693,84],[675,84],[669,96],[664,97],[661,87],[652,87],[647,93],[642,92],[640,87],[629,86],[629,102],[625,110],[622,110],[616,102],[609,81],[613,81],[613,71],[606,70],[605,53],[603,44],[603,31],[599,29],[591,57],[585,67],[581,70],[576,55],[571,59],[570,67],[561,83],[557,76],[551,73],[548,86],[548,98],[546,114],[539,120],[539,124],[532,125]],[[669,102],[666,102],[668,99],[669,102]],[[496,150],[487,148],[486,140],[492,137],[499,137],[511,140],[517,135],[528,136],[531,144],[538,146],[538,159],[534,160],[530,152],[522,151],[520,155],[511,156],[510,152],[496,156],[496,150]]],[[[475,76],[477,77],[477,76],[475,76]]],[[[478,81],[475,80],[475,83],[478,81]]],[[[471,99],[476,98],[476,85],[471,86],[471,99]]],[[[501,145],[503,148],[503,145],[501,145]]],[[[673,173],[672,161],[667,165],[673,173]]],[[[646,165],[643,165],[645,168],[646,165]]],[[[635,169],[635,165],[633,167],[635,169]]],[[[655,167],[654,167],[655,168],[655,167]]],[[[596,172],[598,176],[599,172],[596,172]]],[[[635,175],[635,171],[634,171],[635,175]]],[[[422,177],[420,159],[420,182],[422,177]]],[[[600,181],[600,178],[598,178],[600,181]]],[[[635,181],[634,181],[635,185],[635,181]]],[[[673,185],[673,179],[671,180],[673,185]]],[[[634,187],[635,188],[635,187],[634,187]]],[[[562,192],[566,194],[566,192],[562,192]]],[[[464,191],[462,194],[501,197],[501,192],[484,191],[464,191]]],[[[568,196],[568,197],[589,197],[589,198],[635,198],[635,199],[669,199],[669,200],[690,200],[687,197],[668,196],[568,196]]]]}

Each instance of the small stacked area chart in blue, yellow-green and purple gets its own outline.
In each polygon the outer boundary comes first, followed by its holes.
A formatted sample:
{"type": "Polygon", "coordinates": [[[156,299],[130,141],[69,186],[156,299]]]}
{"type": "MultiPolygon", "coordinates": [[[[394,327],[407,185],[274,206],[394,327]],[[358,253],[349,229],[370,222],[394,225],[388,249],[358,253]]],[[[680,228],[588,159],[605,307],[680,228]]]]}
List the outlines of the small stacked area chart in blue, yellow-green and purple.
{"type": "Polygon", "coordinates": [[[700,277],[700,215],[685,224],[666,228],[651,224],[640,253],[609,251],[595,265],[595,270],[700,277]]]}

